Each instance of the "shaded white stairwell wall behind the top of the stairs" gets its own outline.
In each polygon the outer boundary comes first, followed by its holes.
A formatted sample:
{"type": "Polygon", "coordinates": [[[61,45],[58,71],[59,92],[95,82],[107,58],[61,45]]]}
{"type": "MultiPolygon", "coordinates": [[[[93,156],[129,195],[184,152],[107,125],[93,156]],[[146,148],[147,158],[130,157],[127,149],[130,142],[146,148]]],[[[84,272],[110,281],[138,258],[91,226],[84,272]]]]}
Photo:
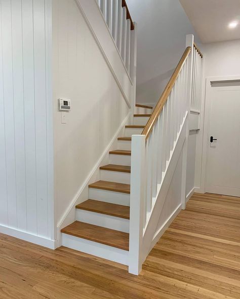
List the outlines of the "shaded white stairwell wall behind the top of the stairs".
{"type": "Polygon", "coordinates": [[[186,34],[200,41],[178,0],[127,0],[138,23],[137,103],[156,103],[184,50],[186,34]]]}

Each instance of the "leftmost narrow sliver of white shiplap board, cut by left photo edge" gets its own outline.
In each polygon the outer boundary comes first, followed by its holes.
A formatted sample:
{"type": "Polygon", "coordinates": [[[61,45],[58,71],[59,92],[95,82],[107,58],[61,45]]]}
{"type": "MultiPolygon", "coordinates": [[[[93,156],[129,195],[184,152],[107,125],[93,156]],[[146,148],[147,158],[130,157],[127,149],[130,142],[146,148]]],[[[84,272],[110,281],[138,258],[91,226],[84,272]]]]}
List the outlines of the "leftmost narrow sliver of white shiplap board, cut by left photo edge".
{"type": "Polygon", "coordinates": [[[4,81],[3,81],[3,46],[2,46],[2,1],[0,1],[0,224],[8,224],[8,197],[6,177],[5,117],[4,117],[4,81]]]}

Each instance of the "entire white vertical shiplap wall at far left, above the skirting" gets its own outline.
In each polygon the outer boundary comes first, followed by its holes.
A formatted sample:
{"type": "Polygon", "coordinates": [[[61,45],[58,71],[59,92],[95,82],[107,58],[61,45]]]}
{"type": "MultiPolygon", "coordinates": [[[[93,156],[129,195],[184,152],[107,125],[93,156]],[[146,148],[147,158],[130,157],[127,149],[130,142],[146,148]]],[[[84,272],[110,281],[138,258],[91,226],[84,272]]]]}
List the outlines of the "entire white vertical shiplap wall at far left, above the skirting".
{"type": "Polygon", "coordinates": [[[53,240],[51,18],[51,0],[0,0],[0,231],[53,240]]]}

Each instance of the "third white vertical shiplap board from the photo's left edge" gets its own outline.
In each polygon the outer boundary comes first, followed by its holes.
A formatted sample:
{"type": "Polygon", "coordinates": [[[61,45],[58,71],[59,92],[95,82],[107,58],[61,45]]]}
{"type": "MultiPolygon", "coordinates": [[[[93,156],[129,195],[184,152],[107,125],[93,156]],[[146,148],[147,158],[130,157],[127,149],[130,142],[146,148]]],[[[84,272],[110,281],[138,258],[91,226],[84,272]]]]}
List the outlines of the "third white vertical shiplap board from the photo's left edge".
{"type": "Polygon", "coordinates": [[[22,5],[19,0],[11,1],[12,8],[12,51],[13,51],[13,95],[16,160],[16,195],[18,228],[27,229],[26,217],[26,171],[24,138],[24,93],[23,93],[23,44],[22,5]]]}

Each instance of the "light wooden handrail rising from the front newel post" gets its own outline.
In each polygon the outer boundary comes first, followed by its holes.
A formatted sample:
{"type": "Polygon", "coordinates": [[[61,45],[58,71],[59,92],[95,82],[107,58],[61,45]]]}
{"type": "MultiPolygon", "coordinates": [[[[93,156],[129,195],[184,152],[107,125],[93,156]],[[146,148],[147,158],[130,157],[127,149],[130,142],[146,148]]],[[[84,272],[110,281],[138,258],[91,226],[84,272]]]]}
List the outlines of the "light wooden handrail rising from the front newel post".
{"type": "Polygon", "coordinates": [[[159,101],[157,102],[156,104],[156,107],[155,109],[153,110],[153,113],[151,114],[145,128],[143,129],[142,131],[142,135],[145,135],[146,136],[146,140],[147,138],[149,137],[152,129],[153,129],[153,126],[157,120],[157,117],[159,116],[159,114],[161,113],[161,111],[163,110],[164,108],[164,105],[165,103],[167,102],[167,99],[168,99],[168,96],[181,72],[181,69],[189,55],[189,53],[191,52],[191,47],[187,47],[183,53],[183,56],[182,58],[180,59],[171,79],[169,80],[166,88],[164,89],[164,92],[162,94],[162,96],[159,98],[159,101]]]}

